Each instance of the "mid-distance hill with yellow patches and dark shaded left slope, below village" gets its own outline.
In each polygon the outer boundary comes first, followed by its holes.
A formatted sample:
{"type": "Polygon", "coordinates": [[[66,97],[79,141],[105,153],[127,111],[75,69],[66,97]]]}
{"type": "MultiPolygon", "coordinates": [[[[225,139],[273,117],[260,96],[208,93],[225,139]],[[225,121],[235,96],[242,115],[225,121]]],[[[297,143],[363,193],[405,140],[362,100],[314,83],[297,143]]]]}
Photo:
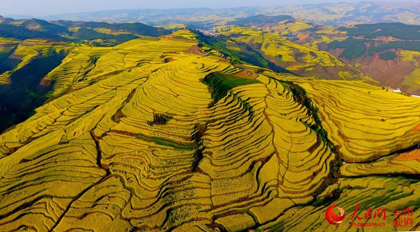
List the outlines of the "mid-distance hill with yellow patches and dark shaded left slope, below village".
{"type": "MultiPolygon", "coordinates": [[[[290,21],[286,19],[275,25],[260,23],[252,27],[217,27],[217,37],[202,37],[205,43],[210,45],[210,53],[221,55],[233,62],[246,61],[277,72],[292,72],[323,79],[373,81],[357,68],[348,66],[332,54],[320,50],[316,44],[299,44],[290,40],[289,34],[276,32],[280,30],[280,25],[289,27],[293,24],[294,27],[302,28],[299,21],[290,21]]],[[[293,30],[293,27],[290,29],[293,30]]]]}

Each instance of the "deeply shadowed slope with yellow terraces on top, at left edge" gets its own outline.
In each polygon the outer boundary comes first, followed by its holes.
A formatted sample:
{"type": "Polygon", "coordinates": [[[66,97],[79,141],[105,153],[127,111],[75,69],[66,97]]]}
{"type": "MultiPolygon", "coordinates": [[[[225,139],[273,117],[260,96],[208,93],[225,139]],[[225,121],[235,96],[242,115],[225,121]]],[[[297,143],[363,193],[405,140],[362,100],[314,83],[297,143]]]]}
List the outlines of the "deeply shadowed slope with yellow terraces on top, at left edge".
{"type": "Polygon", "coordinates": [[[25,121],[46,100],[42,78],[74,44],[46,39],[0,38],[0,131],[25,121]]]}

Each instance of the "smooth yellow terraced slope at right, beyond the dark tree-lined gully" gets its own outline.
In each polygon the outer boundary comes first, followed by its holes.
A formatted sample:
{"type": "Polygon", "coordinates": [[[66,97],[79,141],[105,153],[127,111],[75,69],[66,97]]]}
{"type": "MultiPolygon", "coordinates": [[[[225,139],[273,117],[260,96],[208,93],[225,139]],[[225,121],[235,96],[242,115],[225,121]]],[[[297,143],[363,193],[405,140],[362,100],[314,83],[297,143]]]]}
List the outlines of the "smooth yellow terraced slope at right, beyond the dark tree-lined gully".
{"type": "Polygon", "coordinates": [[[343,158],[372,161],[418,144],[420,100],[359,81],[299,80],[343,158]]]}

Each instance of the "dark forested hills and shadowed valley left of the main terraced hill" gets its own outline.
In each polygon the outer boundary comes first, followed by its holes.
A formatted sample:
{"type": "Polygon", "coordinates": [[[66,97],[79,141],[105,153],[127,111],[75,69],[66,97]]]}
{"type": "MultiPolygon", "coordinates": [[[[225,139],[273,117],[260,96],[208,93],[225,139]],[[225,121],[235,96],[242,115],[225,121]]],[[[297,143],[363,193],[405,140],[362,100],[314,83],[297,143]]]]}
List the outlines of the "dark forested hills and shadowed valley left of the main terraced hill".
{"type": "MultiPolygon", "coordinates": [[[[141,23],[46,22],[0,17],[0,131],[29,118],[49,96],[43,78],[81,45],[111,47],[170,33],[141,23]],[[70,53],[70,54],[69,54],[70,53]],[[45,64],[45,65],[42,65],[45,64]]],[[[94,65],[95,57],[85,61],[94,65]]],[[[80,73],[84,75],[86,73],[80,73]]]]}

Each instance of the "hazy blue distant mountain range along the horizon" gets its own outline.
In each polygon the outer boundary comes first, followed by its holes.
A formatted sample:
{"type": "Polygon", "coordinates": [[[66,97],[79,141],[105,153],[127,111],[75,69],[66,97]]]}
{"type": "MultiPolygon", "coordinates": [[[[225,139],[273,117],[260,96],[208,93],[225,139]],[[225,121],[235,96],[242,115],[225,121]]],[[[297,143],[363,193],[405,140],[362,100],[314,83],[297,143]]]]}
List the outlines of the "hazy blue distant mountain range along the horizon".
{"type": "MultiPolygon", "coordinates": [[[[341,26],[361,23],[401,22],[420,24],[420,3],[413,2],[358,2],[323,3],[297,6],[237,7],[226,9],[126,9],[87,13],[71,13],[38,17],[44,20],[73,21],[135,21],[150,25],[206,22],[216,23],[256,14],[267,16],[291,15],[313,23],[341,26]]],[[[14,18],[28,18],[16,16],[14,18]]]]}

